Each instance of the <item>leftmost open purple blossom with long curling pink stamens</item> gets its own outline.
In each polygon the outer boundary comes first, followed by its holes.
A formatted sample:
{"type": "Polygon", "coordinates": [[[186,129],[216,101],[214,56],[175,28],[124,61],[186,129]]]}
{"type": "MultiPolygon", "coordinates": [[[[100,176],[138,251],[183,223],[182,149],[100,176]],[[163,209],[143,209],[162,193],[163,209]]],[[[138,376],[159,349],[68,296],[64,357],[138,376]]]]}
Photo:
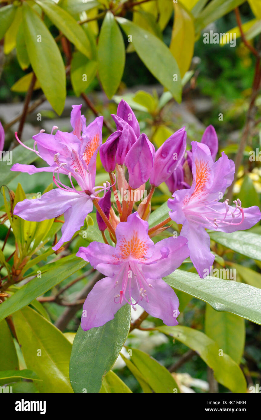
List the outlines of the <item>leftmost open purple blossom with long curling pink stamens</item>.
{"type": "Polygon", "coordinates": [[[40,171],[53,172],[53,181],[58,188],[46,192],[41,198],[18,202],[14,214],[24,220],[42,221],[64,213],[62,236],[53,247],[54,250],[69,241],[83,226],[84,219],[92,211],[92,199],[95,199],[96,194],[109,189],[107,184],[95,187],[96,157],[102,143],[103,117],[95,118],[86,127],[85,118],[81,115],[81,106],[75,105],[71,112],[72,133],[57,131],[53,135],[40,132],[33,137],[34,149],[36,144],[38,148],[38,151],[34,151],[49,167],[36,168],[34,165],[15,164],[12,168],[13,171],[30,174],[40,171]],[[70,186],[61,182],[61,174],[68,176],[70,186]],[[79,190],[75,188],[72,178],[78,183],[79,190]]]}

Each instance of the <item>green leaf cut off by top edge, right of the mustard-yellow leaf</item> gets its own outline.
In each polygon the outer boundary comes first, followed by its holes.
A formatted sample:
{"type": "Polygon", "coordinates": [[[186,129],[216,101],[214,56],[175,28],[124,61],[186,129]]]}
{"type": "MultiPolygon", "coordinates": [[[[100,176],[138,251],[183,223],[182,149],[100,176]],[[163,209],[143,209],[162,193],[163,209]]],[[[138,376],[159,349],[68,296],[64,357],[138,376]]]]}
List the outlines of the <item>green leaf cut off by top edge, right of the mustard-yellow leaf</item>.
{"type": "Polygon", "coordinates": [[[211,22],[221,18],[231,12],[237,6],[244,3],[245,0],[212,0],[198,15],[196,20],[197,32],[205,28],[211,22]]]}

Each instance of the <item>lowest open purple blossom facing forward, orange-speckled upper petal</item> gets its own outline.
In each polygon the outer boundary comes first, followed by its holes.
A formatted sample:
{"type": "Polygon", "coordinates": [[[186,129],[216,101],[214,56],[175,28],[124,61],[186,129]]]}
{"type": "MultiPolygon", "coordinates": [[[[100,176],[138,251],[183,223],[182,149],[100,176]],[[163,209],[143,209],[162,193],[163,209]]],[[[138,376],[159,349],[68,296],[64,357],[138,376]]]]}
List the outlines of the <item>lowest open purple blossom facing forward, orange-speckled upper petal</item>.
{"type": "Polygon", "coordinates": [[[84,302],[82,329],[99,327],[124,305],[142,306],[166,325],[177,325],[179,301],[162,280],[189,255],[187,239],[167,238],[154,244],[148,222],[137,212],[116,227],[116,247],[100,242],[80,247],[76,254],[89,261],[105,278],[95,284],[84,302]]]}

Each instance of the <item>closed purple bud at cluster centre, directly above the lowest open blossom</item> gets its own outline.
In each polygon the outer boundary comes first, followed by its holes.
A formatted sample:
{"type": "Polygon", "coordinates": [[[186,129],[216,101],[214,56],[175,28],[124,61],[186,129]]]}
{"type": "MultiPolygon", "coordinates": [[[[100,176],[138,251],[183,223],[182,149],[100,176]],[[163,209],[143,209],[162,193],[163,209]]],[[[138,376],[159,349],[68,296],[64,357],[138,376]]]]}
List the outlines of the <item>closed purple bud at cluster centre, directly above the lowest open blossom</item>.
{"type": "Polygon", "coordinates": [[[141,134],[126,155],[125,165],[129,172],[129,185],[139,188],[148,181],[155,159],[155,148],[146,134],[141,134]]]}

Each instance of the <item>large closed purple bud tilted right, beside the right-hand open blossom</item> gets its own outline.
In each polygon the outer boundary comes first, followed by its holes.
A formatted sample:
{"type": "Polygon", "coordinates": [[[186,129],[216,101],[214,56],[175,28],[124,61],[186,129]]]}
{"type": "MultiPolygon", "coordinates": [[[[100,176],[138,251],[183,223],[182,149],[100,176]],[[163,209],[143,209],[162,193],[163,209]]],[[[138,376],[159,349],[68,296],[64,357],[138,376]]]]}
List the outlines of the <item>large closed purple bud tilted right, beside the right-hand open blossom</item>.
{"type": "Polygon", "coordinates": [[[159,186],[166,181],[182,161],[186,151],[185,127],[172,134],[156,151],[150,184],[159,186]]]}

